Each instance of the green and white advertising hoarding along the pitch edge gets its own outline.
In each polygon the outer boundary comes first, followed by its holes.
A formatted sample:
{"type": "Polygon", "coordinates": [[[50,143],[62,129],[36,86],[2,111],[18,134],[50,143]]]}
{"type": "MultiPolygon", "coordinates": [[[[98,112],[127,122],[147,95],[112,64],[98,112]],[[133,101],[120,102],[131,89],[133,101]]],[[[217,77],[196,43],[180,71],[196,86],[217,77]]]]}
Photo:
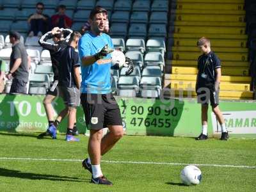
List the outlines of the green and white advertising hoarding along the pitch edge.
{"type": "MultiPolygon", "coordinates": [[[[47,117],[44,95],[0,95],[0,131],[43,132],[47,117]]],[[[120,106],[124,129],[129,135],[188,136],[201,132],[200,104],[195,99],[143,99],[116,97],[120,106]]],[[[54,103],[56,114],[65,106],[61,99],[54,103]]],[[[221,101],[230,137],[256,138],[256,102],[221,101]]],[[[209,109],[209,136],[220,136],[220,125],[209,109]]],[[[77,109],[77,127],[86,132],[83,109],[77,109]]],[[[67,118],[58,128],[66,132],[67,118]]]]}

